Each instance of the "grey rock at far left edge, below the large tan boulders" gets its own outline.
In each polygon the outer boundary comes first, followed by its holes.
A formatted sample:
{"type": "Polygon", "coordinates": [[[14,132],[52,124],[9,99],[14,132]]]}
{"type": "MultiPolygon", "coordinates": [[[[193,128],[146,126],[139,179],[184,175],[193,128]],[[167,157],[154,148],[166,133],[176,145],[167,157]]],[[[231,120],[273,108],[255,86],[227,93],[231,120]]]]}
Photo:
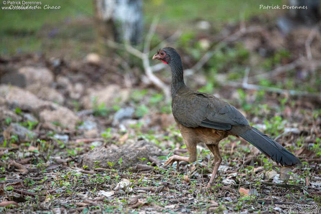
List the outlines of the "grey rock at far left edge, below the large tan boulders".
{"type": "Polygon", "coordinates": [[[11,139],[11,135],[17,135],[19,140],[34,140],[38,137],[38,134],[30,131],[26,127],[19,125],[18,123],[11,123],[10,126],[3,132],[4,138],[11,139]]]}

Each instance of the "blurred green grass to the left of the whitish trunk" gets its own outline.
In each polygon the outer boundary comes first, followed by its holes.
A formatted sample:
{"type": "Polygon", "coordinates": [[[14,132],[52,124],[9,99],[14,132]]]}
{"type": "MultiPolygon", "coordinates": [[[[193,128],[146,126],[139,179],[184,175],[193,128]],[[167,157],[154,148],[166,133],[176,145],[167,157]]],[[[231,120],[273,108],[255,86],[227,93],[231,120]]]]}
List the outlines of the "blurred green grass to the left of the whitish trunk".
{"type": "MultiPolygon", "coordinates": [[[[1,9],[1,54],[55,52],[65,50],[66,46],[79,53],[79,46],[83,46],[81,43],[94,38],[93,28],[83,28],[82,23],[83,18],[93,15],[92,1],[43,0],[41,3],[42,9],[37,10],[1,9]],[[61,8],[45,10],[45,5],[61,8]]],[[[0,6],[3,6],[2,2],[0,6]]]]}

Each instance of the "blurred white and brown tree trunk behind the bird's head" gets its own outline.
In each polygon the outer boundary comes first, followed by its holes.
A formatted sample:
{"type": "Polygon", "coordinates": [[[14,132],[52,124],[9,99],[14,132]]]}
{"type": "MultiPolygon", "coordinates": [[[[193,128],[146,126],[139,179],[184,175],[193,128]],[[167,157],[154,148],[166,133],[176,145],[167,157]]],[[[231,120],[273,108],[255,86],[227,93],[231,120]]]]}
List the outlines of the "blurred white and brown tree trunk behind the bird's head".
{"type": "Polygon", "coordinates": [[[94,0],[100,38],[117,42],[142,42],[141,0],[94,0]]]}

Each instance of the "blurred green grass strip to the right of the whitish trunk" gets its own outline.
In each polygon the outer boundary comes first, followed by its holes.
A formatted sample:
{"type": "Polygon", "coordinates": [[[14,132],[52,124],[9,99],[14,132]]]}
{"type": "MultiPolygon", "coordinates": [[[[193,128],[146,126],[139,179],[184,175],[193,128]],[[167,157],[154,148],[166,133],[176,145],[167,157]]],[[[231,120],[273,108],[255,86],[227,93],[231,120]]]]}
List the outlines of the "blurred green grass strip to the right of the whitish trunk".
{"type": "MultiPolygon", "coordinates": [[[[201,2],[190,0],[152,0],[144,2],[147,20],[152,20],[154,14],[159,14],[161,22],[170,27],[187,27],[188,24],[197,20],[206,20],[221,26],[224,22],[239,21],[240,16],[248,19],[253,15],[266,13],[267,10],[259,9],[260,4],[276,5],[281,3],[281,0],[265,2],[256,0],[206,0],[201,2]]],[[[275,11],[270,10],[268,13],[275,13],[275,11]]]]}

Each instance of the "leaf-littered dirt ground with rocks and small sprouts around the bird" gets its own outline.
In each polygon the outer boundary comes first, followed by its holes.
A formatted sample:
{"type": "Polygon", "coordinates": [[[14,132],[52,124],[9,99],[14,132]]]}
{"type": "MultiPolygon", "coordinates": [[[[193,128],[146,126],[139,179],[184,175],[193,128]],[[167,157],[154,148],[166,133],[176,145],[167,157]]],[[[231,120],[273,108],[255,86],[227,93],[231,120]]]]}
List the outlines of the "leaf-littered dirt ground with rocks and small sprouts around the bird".
{"type": "MultiPolygon", "coordinates": [[[[259,29],[225,41],[221,52],[204,65],[209,68],[218,64],[215,60],[232,57],[233,62],[225,60],[218,67],[216,83],[206,87],[212,78],[206,69],[187,75],[186,82],[232,103],[303,166],[277,166],[246,141],[229,137],[220,144],[223,161],[215,185],[206,189],[213,155],[205,145],[198,146],[195,163],[163,165],[173,154],[188,153],[170,103],[146,81],[141,65],[128,68],[119,55],[94,53],[81,61],[38,54],[2,56],[0,212],[318,213],[321,34],[312,37],[310,28],[300,28],[284,35],[273,23],[256,22],[259,29]],[[307,59],[310,37],[312,58],[307,59]],[[242,54],[240,44],[249,54],[242,54]],[[240,90],[243,74],[233,72],[231,64],[245,66],[242,57],[253,71],[248,82],[262,85],[269,80],[270,85],[240,90]],[[259,64],[272,68],[260,81],[255,75],[268,69],[259,64]],[[233,82],[239,78],[239,86],[228,84],[232,75],[233,82]],[[279,83],[288,90],[273,92],[279,83]],[[306,86],[307,93],[296,94],[306,86]],[[291,94],[293,88],[298,90],[291,94]]],[[[238,30],[235,25],[215,37],[200,34],[193,44],[208,51],[208,42],[218,43],[238,30]]],[[[187,48],[178,51],[184,67],[197,62],[187,48]]],[[[156,75],[170,84],[168,69],[156,75]]]]}

